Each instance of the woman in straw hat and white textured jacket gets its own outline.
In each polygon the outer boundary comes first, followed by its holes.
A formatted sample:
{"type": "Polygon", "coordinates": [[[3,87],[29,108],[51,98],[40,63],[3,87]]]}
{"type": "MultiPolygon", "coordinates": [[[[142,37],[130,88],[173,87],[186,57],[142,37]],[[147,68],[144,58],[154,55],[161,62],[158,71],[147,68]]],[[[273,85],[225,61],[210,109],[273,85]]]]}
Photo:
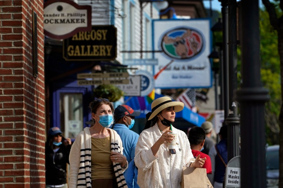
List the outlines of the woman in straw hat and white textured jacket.
{"type": "Polygon", "coordinates": [[[175,112],[183,110],[184,103],[160,97],[151,108],[136,145],[137,183],[140,187],[181,187],[183,166],[201,168],[206,158],[194,159],[186,133],[172,126],[175,112]],[[167,142],[173,140],[173,135],[168,133],[172,132],[177,133],[176,149],[169,151],[167,142]]]}

